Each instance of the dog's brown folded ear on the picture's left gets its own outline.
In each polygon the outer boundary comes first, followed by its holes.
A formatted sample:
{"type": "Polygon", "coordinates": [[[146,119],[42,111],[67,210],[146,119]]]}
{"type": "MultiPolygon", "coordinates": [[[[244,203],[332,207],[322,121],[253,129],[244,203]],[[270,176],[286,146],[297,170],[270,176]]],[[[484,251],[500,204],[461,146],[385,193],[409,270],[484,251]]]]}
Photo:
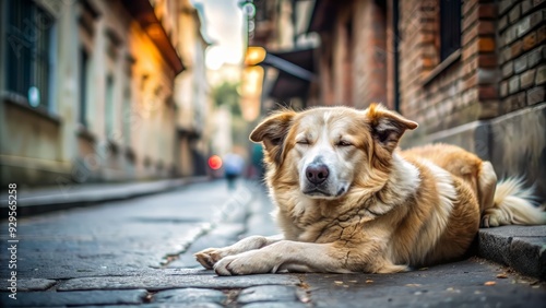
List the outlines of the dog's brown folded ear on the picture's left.
{"type": "Polygon", "coordinates": [[[263,120],[250,133],[250,140],[262,142],[265,146],[269,159],[280,165],[283,159],[283,144],[296,116],[293,110],[284,110],[274,114],[263,120]]]}

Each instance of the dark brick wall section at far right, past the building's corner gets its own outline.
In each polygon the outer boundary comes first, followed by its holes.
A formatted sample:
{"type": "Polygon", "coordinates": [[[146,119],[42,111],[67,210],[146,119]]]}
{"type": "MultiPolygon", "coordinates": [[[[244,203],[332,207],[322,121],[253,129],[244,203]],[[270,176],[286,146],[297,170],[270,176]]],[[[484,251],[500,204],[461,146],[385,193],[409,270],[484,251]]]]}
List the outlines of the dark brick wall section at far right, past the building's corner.
{"type": "Polygon", "coordinates": [[[498,45],[500,112],[510,112],[545,100],[545,1],[501,1],[498,45]]]}

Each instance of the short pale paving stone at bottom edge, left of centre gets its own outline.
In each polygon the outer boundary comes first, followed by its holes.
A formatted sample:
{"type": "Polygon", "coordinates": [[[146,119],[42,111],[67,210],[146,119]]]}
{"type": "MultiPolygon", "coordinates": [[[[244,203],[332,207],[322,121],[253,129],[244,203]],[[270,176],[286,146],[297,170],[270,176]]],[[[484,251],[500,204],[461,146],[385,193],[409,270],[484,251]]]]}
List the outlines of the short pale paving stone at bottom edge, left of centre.
{"type": "Polygon", "coordinates": [[[222,304],[227,296],[217,289],[176,288],[155,294],[153,303],[222,304]]]}

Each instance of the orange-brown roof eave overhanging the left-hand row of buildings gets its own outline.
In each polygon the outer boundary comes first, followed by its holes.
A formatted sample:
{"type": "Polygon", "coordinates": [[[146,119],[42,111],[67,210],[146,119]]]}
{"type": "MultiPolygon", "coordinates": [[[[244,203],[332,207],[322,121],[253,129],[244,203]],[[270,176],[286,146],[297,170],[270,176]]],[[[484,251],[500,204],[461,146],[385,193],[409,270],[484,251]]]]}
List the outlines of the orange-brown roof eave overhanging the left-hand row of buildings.
{"type": "Polygon", "coordinates": [[[181,73],[185,70],[182,61],[170,43],[167,33],[165,33],[162,23],[157,20],[150,1],[122,0],[122,3],[157,46],[157,49],[159,49],[167,63],[175,70],[175,74],[181,73]]]}

